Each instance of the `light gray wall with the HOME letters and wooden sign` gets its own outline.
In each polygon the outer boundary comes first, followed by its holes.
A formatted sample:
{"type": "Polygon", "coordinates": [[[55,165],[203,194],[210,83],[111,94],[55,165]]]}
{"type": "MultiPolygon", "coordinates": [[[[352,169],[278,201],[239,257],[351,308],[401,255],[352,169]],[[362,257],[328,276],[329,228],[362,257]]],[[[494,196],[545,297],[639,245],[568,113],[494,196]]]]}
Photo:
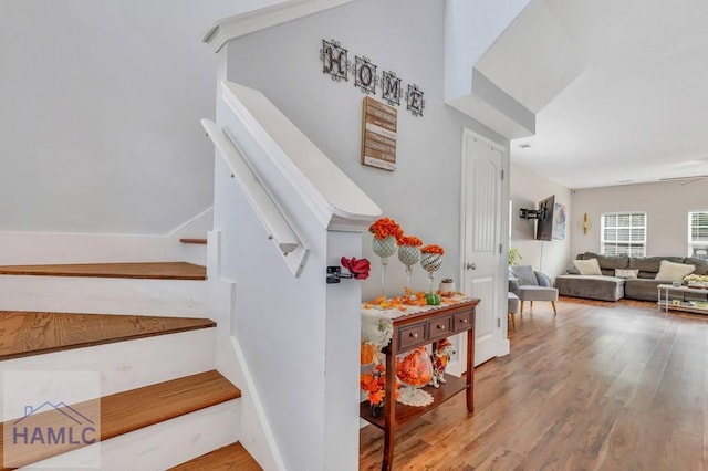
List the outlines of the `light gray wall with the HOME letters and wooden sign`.
{"type": "MultiPolygon", "coordinates": [[[[438,279],[460,270],[460,188],[462,129],[508,146],[508,140],[444,103],[445,3],[428,0],[360,0],[231,41],[228,78],[260,90],[406,233],[445,248],[438,279]],[[336,40],[348,59],[366,56],[377,73],[393,71],[403,90],[424,92],[424,116],[397,114],[396,170],[361,164],[362,102],[354,77],[336,82],[322,73],[322,40],[336,40]]],[[[375,100],[381,101],[377,87],[375,100]]],[[[364,299],[381,294],[381,262],[365,234],[363,257],[372,275],[364,299]]],[[[351,255],[351,254],[343,254],[351,255]]],[[[392,260],[389,295],[403,292],[405,269],[392,260]]],[[[412,287],[427,287],[414,270],[412,287]]]]}

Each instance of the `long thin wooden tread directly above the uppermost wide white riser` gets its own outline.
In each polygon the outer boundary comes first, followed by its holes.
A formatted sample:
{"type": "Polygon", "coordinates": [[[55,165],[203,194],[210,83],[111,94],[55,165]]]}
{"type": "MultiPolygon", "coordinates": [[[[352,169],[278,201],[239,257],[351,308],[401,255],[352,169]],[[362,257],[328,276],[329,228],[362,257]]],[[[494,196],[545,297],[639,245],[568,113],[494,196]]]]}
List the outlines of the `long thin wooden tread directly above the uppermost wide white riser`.
{"type": "Polygon", "coordinates": [[[188,262],[70,263],[49,265],[0,265],[0,274],[206,280],[207,269],[206,266],[188,262]]]}

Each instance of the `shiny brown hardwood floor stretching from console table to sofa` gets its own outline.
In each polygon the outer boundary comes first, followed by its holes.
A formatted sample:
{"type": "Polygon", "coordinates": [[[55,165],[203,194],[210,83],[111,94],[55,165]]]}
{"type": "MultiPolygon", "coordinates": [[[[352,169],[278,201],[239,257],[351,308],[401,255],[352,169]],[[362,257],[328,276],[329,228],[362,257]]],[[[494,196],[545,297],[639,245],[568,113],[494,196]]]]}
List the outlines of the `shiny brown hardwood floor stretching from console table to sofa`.
{"type": "MultiPolygon", "coordinates": [[[[708,316],[562,297],[510,339],[475,370],[473,415],[458,395],[397,432],[395,470],[708,467],[708,316]]],[[[360,469],[381,469],[381,430],[360,435],[360,469]]]]}

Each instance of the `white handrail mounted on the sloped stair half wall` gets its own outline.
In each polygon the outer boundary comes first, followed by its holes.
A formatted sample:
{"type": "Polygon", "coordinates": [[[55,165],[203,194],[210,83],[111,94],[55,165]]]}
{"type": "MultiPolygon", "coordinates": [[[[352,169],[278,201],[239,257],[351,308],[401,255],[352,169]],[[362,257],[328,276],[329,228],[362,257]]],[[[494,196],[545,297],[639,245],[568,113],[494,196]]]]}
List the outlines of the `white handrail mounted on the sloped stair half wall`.
{"type": "MultiPolygon", "coordinates": [[[[295,234],[283,211],[268,195],[258,176],[251,170],[239,146],[212,121],[201,119],[200,123],[229,166],[232,177],[243,190],[253,212],[256,212],[256,216],[266,228],[268,238],[279,248],[283,258],[292,252],[300,252],[299,254],[295,253],[296,263],[288,263],[293,275],[298,276],[304,264],[304,258],[309,252],[308,248],[295,234]]],[[[289,262],[288,259],[287,262],[289,262]]]]}

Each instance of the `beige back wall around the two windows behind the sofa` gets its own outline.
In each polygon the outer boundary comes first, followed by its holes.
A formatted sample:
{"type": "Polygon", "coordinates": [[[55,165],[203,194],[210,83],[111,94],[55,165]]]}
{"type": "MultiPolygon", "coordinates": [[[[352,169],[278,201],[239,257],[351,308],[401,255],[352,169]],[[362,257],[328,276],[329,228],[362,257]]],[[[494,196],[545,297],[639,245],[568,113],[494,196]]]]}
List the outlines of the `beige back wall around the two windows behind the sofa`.
{"type": "Polygon", "coordinates": [[[600,252],[601,217],[605,212],[643,211],[647,214],[647,255],[688,254],[688,212],[708,209],[708,180],[623,185],[573,190],[573,213],[577,222],[587,212],[592,228],[587,236],[572,232],[573,258],[581,252],[600,252]]]}

